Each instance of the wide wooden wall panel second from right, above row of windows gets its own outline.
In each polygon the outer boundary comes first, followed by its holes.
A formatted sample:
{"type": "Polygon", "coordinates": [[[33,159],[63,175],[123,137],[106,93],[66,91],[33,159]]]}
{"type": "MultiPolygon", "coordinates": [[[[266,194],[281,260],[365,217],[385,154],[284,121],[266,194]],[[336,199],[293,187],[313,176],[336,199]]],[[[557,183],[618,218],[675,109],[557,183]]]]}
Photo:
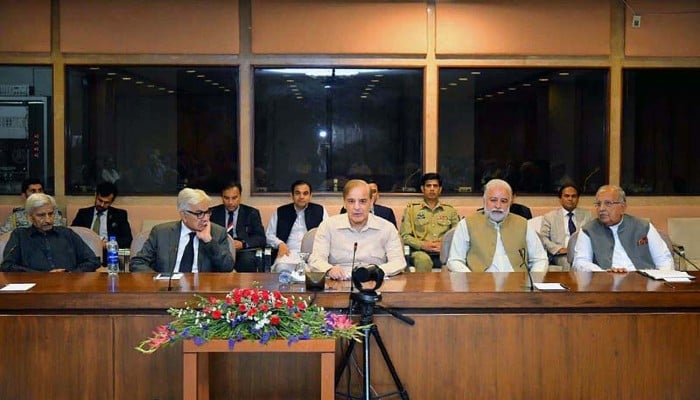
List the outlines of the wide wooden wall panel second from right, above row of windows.
{"type": "Polygon", "coordinates": [[[436,54],[607,55],[607,0],[462,1],[436,5],[436,54]]]}

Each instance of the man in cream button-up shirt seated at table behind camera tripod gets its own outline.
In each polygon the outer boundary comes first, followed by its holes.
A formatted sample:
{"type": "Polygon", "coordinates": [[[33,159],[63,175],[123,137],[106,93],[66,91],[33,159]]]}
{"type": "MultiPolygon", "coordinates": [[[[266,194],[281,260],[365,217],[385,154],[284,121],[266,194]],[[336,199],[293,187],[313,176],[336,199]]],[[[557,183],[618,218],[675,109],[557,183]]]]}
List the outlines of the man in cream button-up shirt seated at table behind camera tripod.
{"type": "Polygon", "coordinates": [[[369,185],[353,179],[343,189],[347,214],[334,215],[321,223],[309,259],[312,271],[327,272],[331,279],[350,279],[354,266],[376,264],[386,275],[406,268],[396,228],[370,214],[369,185]]]}

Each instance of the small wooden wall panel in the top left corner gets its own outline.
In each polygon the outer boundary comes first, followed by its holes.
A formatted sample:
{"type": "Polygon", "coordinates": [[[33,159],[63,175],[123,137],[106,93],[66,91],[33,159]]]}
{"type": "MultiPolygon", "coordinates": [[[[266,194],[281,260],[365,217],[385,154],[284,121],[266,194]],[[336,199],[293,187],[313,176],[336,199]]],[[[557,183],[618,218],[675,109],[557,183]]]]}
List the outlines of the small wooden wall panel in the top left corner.
{"type": "Polygon", "coordinates": [[[51,51],[50,0],[0,0],[0,52],[51,51]]]}

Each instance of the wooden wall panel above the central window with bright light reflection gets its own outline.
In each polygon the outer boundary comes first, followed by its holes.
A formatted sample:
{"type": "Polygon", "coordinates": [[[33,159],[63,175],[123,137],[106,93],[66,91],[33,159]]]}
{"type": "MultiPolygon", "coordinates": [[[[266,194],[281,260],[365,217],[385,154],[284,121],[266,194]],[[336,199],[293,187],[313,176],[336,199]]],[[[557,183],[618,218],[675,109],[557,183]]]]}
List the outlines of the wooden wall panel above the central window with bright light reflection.
{"type": "Polygon", "coordinates": [[[425,54],[419,1],[252,0],[253,53],[425,54]]]}

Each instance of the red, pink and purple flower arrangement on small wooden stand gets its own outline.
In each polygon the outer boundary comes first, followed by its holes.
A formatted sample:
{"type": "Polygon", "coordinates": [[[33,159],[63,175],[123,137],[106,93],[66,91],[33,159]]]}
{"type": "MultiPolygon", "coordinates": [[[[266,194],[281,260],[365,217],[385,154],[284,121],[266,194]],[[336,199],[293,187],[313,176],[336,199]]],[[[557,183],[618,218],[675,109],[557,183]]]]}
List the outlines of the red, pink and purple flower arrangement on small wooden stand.
{"type": "Polygon", "coordinates": [[[264,289],[234,289],[221,300],[196,295],[198,301],[184,309],[170,308],[176,317],[167,325],[153,331],[153,336],[141,342],[136,350],[153,353],[182,340],[202,345],[209,340],[228,340],[229,349],[243,340],[266,344],[284,339],[291,346],[299,340],[346,338],[360,340],[362,329],[350,318],[327,312],[323,307],[309,305],[294,296],[285,297],[264,289]]]}

